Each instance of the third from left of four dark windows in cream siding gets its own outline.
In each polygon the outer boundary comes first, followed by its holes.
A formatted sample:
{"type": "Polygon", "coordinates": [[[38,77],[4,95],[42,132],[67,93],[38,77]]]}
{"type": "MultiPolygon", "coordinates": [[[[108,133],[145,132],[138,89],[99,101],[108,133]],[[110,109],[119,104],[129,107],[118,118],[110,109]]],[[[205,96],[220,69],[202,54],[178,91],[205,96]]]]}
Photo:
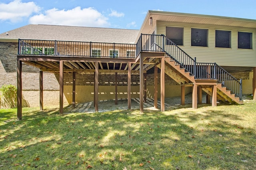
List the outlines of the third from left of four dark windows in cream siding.
{"type": "Polygon", "coordinates": [[[231,31],[215,31],[215,47],[230,48],[231,31]]]}

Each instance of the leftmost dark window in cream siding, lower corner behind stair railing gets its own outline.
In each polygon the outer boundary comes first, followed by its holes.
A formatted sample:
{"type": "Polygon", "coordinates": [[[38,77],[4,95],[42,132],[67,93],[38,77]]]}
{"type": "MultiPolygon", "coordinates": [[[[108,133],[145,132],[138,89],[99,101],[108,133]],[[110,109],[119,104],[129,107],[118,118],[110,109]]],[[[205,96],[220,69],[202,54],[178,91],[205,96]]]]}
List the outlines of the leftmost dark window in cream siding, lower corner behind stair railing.
{"type": "Polygon", "coordinates": [[[176,45],[183,45],[183,28],[166,27],[166,37],[176,45]]]}

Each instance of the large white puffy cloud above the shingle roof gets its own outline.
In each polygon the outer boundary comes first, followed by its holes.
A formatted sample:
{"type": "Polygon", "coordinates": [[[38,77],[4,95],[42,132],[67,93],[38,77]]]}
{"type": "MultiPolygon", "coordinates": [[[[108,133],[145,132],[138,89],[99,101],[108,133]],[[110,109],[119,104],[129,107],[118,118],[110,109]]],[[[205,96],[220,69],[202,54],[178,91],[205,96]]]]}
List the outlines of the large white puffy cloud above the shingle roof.
{"type": "Polygon", "coordinates": [[[108,18],[94,8],[81,9],[80,6],[71,10],[58,10],[56,8],[45,11],[45,14],[32,16],[30,24],[50,24],[65,26],[107,27],[108,18]]]}

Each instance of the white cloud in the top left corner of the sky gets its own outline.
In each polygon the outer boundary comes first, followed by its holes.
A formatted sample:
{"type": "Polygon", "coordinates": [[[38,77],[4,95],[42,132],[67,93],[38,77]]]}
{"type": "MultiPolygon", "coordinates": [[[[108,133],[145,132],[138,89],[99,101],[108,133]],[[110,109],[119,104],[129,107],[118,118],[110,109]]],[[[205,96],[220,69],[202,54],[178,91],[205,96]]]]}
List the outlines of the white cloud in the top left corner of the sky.
{"type": "Polygon", "coordinates": [[[11,22],[21,22],[22,19],[28,18],[31,14],[40,11],[40,7],[34,2],[20,2],[14,0],[9,4],[0,3],[0,20],[11,22]]]}

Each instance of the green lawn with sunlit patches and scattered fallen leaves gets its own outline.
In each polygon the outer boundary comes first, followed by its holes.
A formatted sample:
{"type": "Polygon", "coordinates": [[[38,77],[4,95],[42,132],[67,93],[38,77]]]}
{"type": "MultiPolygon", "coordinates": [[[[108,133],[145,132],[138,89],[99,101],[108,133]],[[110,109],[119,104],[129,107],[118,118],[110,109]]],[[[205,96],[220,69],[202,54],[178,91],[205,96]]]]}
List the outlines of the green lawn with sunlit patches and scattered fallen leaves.
{"type": "Polygon", "coordinates": [[[166,112],[0,109],[0,169],[256,169],[256,102],[166,112]]]}

